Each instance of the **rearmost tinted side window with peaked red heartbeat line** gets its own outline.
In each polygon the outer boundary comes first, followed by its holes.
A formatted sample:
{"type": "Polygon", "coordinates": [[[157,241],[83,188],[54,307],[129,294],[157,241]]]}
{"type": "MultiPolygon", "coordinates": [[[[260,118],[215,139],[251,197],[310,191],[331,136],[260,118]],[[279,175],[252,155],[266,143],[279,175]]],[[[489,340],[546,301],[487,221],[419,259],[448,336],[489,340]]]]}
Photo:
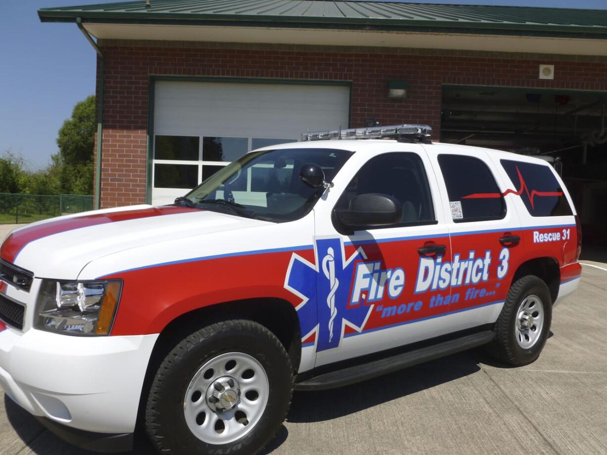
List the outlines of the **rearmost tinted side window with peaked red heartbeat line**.
{"type": "Polygon", "coordinates": [[[548,165],[500,160],[532,217],[573,215],[560,183],[548,165]]]}

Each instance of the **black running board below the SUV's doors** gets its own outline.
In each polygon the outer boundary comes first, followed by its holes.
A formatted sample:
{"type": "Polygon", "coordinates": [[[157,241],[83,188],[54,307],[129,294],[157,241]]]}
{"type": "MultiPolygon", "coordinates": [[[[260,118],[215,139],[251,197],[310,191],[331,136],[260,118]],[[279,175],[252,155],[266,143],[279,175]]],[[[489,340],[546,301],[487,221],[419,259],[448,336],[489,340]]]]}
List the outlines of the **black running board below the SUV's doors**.
{"type": "Polygon", "coordinates": [[[367,379],[373,379],[402,368],[418,365],[418,363],[428,362],[429,360],[439,359],[449,356],[456,352],[466,351],[466,349],[485,345],[493,340],[495,334],[490,331],[477,332],[472,335],[456,338],[436,345],[419,348],[413,351],[404,352],[396,356],[385,359],[373,360],[362,365],[350,366],[349,368],[339,369],[319,376],[311,377],[302,382],[295,383],[295,390],[325,390],[341,387],[344,385],[361,382],[367,379]]]}

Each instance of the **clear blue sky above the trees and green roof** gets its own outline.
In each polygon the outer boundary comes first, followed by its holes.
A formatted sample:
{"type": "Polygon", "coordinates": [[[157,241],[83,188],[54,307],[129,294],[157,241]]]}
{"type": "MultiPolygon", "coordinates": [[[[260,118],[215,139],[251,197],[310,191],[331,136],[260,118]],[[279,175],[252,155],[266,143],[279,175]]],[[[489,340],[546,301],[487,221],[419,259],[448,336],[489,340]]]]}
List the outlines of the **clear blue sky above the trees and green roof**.
{"type": "MultiPolygon", "coordinates": [[[[605,0],[418,2],[607,9],[605,0]]],[[[45,166],[57,152],[57,132],[74,104],[95,92],[96,61],[95,51],[75,24],[42,24],[36,10],[87,3],[110,1],[2,0],[0,153],[21,153],[34,169],[45,166]]]]}

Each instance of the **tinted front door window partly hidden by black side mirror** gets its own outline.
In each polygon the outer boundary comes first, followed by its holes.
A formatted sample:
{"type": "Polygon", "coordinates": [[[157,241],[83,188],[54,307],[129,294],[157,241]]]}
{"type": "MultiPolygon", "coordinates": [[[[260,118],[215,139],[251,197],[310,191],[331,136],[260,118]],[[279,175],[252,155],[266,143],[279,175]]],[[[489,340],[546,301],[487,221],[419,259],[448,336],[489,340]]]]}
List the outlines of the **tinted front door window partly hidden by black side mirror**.
{"type": "Polygon", "coordinates": [[[336,208],[346,209],[352,198],[367,193],[387,194],[398,200],[403,226],[435,223],[426,170],[415,153],[384,153],[371,158],[354,175],[336,208]]]}

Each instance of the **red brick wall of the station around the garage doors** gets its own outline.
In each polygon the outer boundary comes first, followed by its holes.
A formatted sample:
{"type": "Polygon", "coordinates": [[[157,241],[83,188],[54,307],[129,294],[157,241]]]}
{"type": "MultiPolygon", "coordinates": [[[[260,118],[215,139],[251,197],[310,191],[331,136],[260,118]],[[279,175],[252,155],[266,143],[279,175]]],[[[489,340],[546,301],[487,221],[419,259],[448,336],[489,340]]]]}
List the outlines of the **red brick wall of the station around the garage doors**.
{"type": "Polygon", "coordinates": [[[440,127],[441,86],[538,87],[607,91],[607,59],[407,49],[285,45],[101,42],[106,59],[101,207],[145,202],[150,75],[351,81],[351,126],[440,127]],[[538,64],[555,64],[555,80],[538,64]],[[409,96],[386,98],[388,79],[407,79],[409,96]]]}

